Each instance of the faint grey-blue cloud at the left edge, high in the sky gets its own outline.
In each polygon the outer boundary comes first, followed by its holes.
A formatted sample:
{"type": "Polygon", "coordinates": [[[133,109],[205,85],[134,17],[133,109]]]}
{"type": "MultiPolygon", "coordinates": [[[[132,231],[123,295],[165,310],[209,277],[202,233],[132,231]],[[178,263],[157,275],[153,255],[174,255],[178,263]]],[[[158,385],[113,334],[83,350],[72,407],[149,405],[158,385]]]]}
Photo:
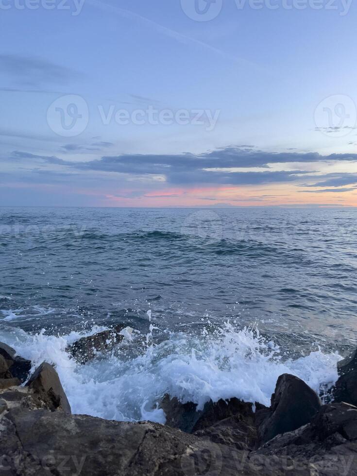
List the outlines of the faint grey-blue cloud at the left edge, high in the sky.
{"type": "MultiPolygon", "coordinates": [[[[63,84],[78,74],[64,66],[50,61],[17,56],[15,54],[0,54],[0,68],[18,85],[39,86],[46,83],[63,84]]],[[[17,88],[12,88],[18,91],[17,88]]]]}

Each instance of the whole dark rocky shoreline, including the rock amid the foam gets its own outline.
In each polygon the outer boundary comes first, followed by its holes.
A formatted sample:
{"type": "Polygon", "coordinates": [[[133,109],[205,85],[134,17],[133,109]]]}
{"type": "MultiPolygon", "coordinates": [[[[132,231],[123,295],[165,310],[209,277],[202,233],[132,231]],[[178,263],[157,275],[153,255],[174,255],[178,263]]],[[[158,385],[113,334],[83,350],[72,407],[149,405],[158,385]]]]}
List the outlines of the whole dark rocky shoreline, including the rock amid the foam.
{"type": "MultiPolygon", "coordinates": [[[[85,363],[121,339],[114,328],[68,352],[85,363]]],[[[164,395],[166,425],[73,415],[55,369],[31,368],[0,342],[0,476],[357,475],[357,351],[328,404],[283,374],[269,408],[232,398],[197,410],[164,395]]]]}

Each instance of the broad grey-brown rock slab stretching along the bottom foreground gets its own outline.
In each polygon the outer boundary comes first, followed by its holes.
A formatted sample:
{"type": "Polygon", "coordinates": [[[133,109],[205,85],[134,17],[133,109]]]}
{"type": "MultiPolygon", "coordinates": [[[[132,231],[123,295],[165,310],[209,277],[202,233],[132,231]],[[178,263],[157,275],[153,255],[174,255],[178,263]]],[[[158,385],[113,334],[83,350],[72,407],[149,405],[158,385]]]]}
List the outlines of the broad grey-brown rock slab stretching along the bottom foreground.
{"type": "MultiPolygon", "coordinates": [[[[311,476],[308,462],[206,442],[168,426],[47,410],[11,409],[1,421],[7,476],[311,476]],[[289,461],[289,465],[294,461],[289,461]]],[[[1,474],[1,473],[0,473],[1,474]]],[[[324,476],[323,473],[321,475],[324,476]]]]}

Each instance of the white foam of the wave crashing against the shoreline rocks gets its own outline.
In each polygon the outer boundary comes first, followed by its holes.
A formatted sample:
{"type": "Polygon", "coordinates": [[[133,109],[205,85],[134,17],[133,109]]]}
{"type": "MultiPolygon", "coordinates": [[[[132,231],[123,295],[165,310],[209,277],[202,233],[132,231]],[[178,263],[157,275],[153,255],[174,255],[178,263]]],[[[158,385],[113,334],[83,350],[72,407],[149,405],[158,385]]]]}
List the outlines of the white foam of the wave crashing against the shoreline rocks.
{"type": "MultiPolygon", "coordinates": [[[[99,330],[92,329],[91,334],[99,330]]],[[[227,323],[214,335],[175,333],[159,345],[152,344],[154,332],[151,325],[146,338],[133,333],[133,341],[124,343],[119,356],[84,366],[65,352],[66,345],[83,334],[56,337],[22,332],[7,343],[30,358],[34,367],[43,360],[55,364],[73,413],[123,421],[165,423],[165,415],[157,407],[165,393],[182,402],[193,401],[198,408],[209,399],[231,397],[269,405],[281,374],[294,374],[315,391],[333,385],[338,378],[338,354],[318,350],[284,360],[272,341],[266,342],[252,329],[237,331],[227,323]]]]}

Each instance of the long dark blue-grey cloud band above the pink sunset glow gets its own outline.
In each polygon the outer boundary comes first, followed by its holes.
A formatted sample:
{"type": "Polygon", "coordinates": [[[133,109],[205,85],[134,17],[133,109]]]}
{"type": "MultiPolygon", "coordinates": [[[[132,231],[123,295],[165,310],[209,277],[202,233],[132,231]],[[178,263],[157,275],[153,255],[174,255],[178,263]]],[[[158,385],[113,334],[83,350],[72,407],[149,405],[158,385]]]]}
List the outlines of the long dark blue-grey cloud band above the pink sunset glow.
{"type": "MultiPolygon", "coordinates": [[[[111,145],[101,142],[102,146],[111,145]]],[[[63,152],[83,152],[95,149],[77,144],[62,146],[63,152]]],[[[127,181],[153,182],[159,180],[174,186],[183,185],[267,185],[291,183],[307,179],[316,180],[311,170],[272,170],[273,163],[331,162],[338,160],[357,161],[357,154],[319,153],[270,153],[238,147],[226,147],[202,154],[122,154],[102,156],[86,162],[65,160],[56,156],[36,155],[15,151],[14,159],[32,159],[83,172],[105,172],[122,174],[127,181]],[[250,170],[239,170],[239,169],[250,170]],[[263,170],[255,170],[263,168],[263,170]],[[266,169],[266,170],[264,170],[266,169]]],[[[300,185],[300,187],[342,187],[357,183],[357,174],[327,174],[320,176],[322,182],[300,185]]]]}

